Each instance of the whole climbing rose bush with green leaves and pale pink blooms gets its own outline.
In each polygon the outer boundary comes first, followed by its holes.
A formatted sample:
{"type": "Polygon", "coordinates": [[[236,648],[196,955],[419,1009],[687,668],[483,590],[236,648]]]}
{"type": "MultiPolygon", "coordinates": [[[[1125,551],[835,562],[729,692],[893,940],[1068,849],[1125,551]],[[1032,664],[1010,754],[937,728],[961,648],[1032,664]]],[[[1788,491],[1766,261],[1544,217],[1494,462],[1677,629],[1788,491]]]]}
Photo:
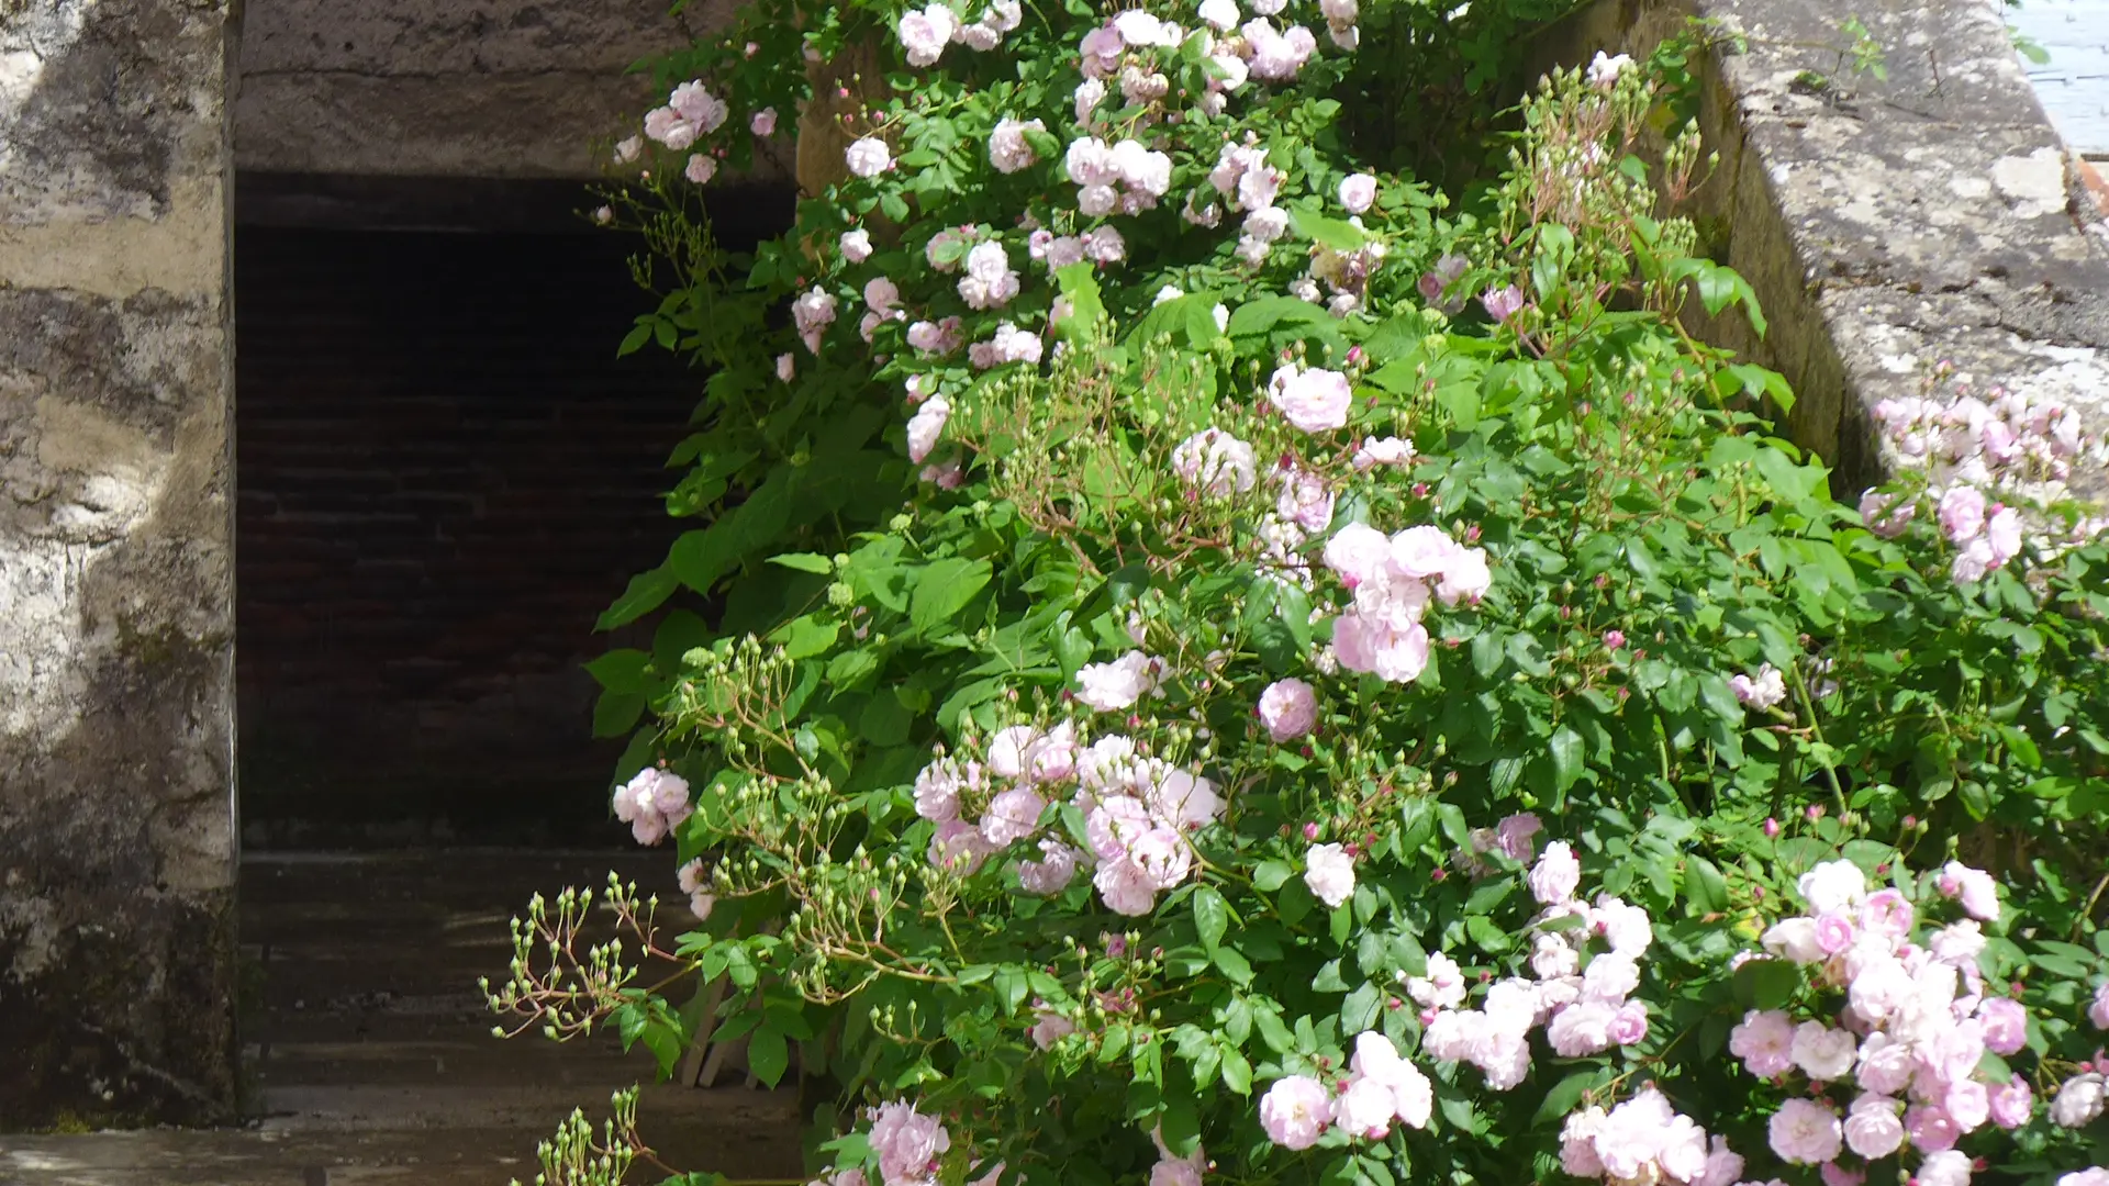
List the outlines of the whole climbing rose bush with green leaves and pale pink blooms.
{"type": "Polygon", "coordinates": [[[593,673],[690,901],[534,903],[494,1009],[742,1038],[833,1186],[2105,1178],[2098,443],[1936,374],[1837,502],[1687,333],[1765,331],[1687,46],[1453,203],[1335,97],[1424,19],[763,2],[664,63],[605,222],[704,525],[593,673]],[[791,112],[827,175],[728,255],[791,112]]]}

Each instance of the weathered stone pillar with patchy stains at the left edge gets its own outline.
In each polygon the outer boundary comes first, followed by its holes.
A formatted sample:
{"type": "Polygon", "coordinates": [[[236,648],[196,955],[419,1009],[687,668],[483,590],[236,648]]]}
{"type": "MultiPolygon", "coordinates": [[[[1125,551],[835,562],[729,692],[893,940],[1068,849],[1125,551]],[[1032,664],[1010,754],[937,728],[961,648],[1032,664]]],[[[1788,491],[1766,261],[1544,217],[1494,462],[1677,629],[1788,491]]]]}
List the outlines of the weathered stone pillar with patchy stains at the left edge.
{"type": "Polygon", "coordinates": [[[234,1114],[234,0],[0,0],[0,1129],[234,1114]]]}

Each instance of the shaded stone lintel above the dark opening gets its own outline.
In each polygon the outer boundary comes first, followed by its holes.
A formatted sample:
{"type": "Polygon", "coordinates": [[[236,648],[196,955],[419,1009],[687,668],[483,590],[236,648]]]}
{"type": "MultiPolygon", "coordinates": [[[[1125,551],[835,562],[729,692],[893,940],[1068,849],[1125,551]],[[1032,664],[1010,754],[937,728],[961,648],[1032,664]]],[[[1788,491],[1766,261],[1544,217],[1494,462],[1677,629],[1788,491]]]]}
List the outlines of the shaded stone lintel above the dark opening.
{"type": "Polygon", "coordinates": [[[633,63],[732,0],[249,0],[234,160],[255,173],[597,177],[652,106],[633,63]]]}

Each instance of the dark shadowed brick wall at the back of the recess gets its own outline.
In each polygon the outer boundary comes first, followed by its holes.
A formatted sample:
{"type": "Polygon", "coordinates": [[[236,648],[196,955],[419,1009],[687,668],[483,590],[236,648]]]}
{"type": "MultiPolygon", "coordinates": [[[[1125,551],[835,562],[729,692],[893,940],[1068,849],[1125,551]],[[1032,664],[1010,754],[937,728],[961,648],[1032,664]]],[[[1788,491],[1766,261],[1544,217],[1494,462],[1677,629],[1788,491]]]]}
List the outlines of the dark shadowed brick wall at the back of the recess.
{"type": "Polygon", "coordinates": [[[243,228],[251,844],[607,840],[593,618],[658,563],[700,376],[618,361],[607,234],[243,228]]]}

